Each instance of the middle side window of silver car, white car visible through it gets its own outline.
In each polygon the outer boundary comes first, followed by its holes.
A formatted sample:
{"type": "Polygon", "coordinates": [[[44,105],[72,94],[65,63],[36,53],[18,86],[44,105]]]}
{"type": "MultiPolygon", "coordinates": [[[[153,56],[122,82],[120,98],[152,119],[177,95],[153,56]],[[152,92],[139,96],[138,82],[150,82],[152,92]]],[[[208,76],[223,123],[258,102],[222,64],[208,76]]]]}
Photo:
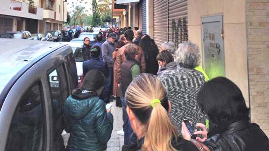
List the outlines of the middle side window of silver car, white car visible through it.
{"type": "MultiPolygon", "coordinates": [[[[55,70],[48,74],[50,85],[50,96],[53,111],[53,149],[61,144],[61,134],[64,130],[63,108],[65,100],[69,95],[66,74],[63,65],[60,65],[55,70]]],[[[64,150],[57,148],[56,150],[64,150]]]]}

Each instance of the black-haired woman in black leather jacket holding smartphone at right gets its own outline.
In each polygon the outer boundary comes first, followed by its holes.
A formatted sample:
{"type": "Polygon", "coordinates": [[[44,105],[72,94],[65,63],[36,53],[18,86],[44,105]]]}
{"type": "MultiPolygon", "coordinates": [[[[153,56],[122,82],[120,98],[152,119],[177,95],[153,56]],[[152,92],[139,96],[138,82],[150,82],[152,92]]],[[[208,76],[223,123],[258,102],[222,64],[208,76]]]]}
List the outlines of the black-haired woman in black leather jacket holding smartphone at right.
{"type": "MultiPolygon", "coordinates": [[[[206,82],[197,96],[197,102],[209,120],[216,125],[209,132],[206,126],[197,123],[201,131],[195,130],[200,142],[212,151],[268,151],[269,141],[259,125],[250,123],[249,109],[240,89],[225,77],[206,82]]],[[[182,137],[191,136],[182,123],[182,137]]]]}

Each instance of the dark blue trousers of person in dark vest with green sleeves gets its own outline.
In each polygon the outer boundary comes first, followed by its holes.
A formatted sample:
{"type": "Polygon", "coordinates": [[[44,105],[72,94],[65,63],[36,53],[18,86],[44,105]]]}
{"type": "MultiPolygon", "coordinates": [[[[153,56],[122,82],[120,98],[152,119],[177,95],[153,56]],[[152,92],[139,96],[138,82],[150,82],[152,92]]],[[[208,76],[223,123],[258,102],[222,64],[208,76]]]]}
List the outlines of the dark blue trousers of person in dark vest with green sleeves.
{"type": "Polygon", "coordinates": [[[120,99],[122,103],[122,119],[123,119],[123,131],[124,131],[124,145],[130,145],[136,142],[137,136],[135,135],[131,123],[129,121],[128,114],[126,112],[126,101],[124,96],[120,92],[120,99]]]}

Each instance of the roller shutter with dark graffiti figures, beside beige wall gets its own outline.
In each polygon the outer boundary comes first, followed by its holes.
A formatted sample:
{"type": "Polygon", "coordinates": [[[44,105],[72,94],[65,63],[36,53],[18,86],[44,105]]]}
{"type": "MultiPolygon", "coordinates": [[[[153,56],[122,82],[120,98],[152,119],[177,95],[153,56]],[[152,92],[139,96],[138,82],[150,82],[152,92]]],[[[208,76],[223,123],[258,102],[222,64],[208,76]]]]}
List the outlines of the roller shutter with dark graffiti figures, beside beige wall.
{"type": "Polygon", "coordinates": [[[169,36],[168,41],[174,42],[176,49],[183,41],[188,41],[188,1],[168,1],[169,36]]]}

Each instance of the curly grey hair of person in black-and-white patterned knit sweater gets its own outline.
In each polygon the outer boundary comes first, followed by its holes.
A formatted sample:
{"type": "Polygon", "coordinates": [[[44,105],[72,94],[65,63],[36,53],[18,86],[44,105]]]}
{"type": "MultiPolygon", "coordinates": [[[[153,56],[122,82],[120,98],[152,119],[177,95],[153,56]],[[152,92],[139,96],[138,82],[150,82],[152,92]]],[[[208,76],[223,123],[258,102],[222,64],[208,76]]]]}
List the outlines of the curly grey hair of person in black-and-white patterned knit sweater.
{"type": "Polygon", "coordinates": [[[176,62],[184,68],[194,69],[201,62],[199,47],[192,42],[179,44],[179,49],[175,52],[175,56],[176,62]]]}

